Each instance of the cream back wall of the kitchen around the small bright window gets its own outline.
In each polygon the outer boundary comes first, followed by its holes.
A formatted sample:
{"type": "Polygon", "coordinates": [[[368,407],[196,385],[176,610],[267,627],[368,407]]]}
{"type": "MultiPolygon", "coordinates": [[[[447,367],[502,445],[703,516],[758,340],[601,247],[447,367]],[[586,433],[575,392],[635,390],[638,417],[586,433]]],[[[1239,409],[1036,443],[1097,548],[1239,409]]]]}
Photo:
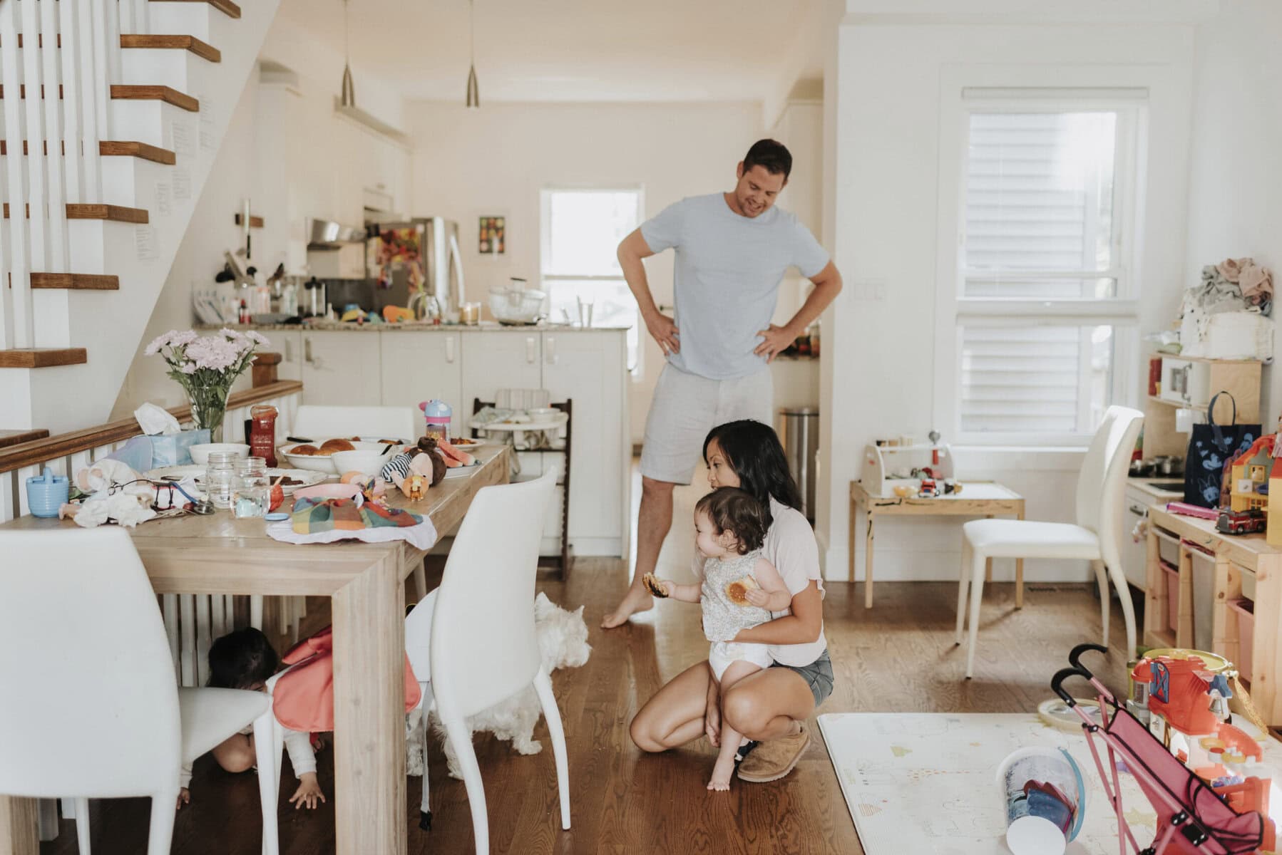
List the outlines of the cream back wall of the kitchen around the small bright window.
{"type": "MultiPolygon", "coordinates": [[[[462,228],[468,299],[486,303],[509,277],[538,279],[540,191],[547,186],[645,187],[645,215],[731,190],[735,165],[762,136],[758,104],[462,104],[406,106],[414,149],[414,215],[462,228]],[[477,253],[477,219],[508,218],[506,253],[477,253]]],[[[800,165],[799,165],[800,168],[800,165]]],[[[815,164],[814,168],[818,168],[815,164]]],[[[672,305],[672,253],[646,261],[655,300],[672,305]]],[[[644,379],[632,386],[640,442],[663,356],[642,335],[644,379]]]]}

